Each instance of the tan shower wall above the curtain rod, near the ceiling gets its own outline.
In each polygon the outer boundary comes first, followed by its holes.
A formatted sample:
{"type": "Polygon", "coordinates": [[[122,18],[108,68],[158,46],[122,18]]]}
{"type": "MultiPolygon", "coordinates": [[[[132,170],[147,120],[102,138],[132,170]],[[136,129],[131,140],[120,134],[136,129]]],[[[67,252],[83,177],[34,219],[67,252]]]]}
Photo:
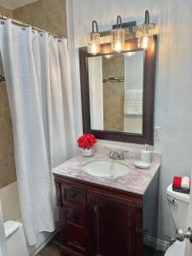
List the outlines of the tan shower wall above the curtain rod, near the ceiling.
{"type": "Polygon", "coordinates": [[[39,0],[15,9],[15,20],[38,26],[48,32],[67,38],[67,11],[65,0],[39,0]]]}

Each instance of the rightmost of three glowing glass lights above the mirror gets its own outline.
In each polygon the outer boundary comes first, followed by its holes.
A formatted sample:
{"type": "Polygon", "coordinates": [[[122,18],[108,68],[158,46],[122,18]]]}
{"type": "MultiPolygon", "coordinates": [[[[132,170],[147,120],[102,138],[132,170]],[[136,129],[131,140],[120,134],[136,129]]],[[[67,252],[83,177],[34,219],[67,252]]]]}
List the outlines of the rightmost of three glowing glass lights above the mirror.
{"type": "Polygon", "coordinates": [[[138,48],[148,49],[153,43],[154,24],[149,23],[148,10],[145,11],[145,22],[137,32],[138,48]]]}

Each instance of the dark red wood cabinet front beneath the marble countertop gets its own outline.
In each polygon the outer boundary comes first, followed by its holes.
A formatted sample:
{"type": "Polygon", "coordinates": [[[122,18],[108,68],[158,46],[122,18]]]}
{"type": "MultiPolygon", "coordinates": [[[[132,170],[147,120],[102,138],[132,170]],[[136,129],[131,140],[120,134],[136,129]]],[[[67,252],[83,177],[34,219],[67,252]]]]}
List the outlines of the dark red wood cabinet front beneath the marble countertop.
{"type": "Polygon", "coordinates": [[[143,255],[143,195],[60,175],[55,175],[55,185],[62,252],[143,255]]]}

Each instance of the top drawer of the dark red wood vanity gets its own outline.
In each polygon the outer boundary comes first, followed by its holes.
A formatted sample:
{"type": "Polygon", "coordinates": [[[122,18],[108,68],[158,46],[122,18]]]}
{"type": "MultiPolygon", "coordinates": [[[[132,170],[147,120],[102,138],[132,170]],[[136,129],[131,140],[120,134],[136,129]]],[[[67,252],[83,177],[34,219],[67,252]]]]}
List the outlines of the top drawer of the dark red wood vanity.
{"type": "Polygon", "coordinates": [[[64,206],[86,207],[86,191],[67,184],[61,184],[61,201],[64,206]]]}

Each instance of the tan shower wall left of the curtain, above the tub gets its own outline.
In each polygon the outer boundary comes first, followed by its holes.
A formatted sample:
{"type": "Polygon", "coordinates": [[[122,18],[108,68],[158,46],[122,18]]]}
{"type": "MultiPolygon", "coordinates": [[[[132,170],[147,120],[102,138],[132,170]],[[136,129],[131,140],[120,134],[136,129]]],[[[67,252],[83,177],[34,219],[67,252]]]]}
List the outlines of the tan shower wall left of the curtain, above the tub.
{"type": "MultiPolygon", "coordinates": [[[[0,6],[0,14],[12,18],[11,10],[0,6]]],[[[3,74],[0,61],[0,74],[3,74]]],[[[0,188],[16,180],[14,138],[6,83],[0,83],[0,188]]]]}

